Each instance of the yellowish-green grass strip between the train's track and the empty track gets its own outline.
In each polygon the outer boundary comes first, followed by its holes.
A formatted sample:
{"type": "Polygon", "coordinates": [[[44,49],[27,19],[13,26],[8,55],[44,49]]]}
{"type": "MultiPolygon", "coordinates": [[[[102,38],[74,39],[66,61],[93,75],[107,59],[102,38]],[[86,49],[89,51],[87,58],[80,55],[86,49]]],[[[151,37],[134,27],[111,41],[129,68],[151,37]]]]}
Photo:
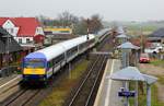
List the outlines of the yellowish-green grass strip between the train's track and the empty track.
{"type": "Polygon", "coordinates": [[[69,76],[62,79],[57,87],[55,87],[50,95],[48,95],[39,106],[62,106],[65,99],[70,93],[71,89],[79,82],[80,76],[84,73],[89,61],[81,61],[70,73],[69,76]]]}

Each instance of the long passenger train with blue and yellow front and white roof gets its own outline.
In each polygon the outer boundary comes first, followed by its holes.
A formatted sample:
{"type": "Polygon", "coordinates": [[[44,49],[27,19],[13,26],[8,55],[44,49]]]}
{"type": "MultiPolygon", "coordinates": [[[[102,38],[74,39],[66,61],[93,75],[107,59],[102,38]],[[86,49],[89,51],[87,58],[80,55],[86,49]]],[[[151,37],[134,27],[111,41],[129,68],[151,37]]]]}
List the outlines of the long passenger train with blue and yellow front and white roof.
{"type": "Polygon", "coordinates": [[[108,32],[109,30],[103,30],[97,35],[83,35],[31,52],[24,57],[22,62],[23,81],[47,82],[66,63],[102,42],[108,35],[108,32]]]}

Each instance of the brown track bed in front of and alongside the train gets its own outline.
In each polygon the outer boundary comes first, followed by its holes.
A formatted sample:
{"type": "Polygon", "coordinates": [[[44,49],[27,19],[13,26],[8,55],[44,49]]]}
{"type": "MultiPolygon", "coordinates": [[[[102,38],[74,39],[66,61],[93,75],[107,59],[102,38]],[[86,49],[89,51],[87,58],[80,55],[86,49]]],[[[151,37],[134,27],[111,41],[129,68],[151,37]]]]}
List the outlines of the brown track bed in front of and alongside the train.
{"type": "MultiPolygon", "coordinates": [[[[75,66],[81,58],[72,61],[72,67],[75,66]]],[[[0,106],[37,106],[39,102],[45,98],[45,96],[50,94],[51,90],[60,83],[59,80],[68,75],[67,70],[68,68],[62,68],[62,72],[58,72],[56,78],[50,79],[47,86],[33,85],[34,87],[27,87],[26,85],[22,85],[16,93],[0,103],[0,106]]]]}

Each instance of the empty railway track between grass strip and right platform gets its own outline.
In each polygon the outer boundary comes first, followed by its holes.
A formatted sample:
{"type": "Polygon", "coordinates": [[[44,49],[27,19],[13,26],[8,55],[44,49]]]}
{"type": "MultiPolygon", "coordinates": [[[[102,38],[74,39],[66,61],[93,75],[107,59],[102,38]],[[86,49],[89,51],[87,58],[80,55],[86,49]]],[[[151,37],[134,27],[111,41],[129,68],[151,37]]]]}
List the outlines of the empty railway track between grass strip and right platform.
{"type": "Polygon", "coordinates": [[[92,106],[106,64],[106,56],[97,56],[68,106],[92,106]]]}

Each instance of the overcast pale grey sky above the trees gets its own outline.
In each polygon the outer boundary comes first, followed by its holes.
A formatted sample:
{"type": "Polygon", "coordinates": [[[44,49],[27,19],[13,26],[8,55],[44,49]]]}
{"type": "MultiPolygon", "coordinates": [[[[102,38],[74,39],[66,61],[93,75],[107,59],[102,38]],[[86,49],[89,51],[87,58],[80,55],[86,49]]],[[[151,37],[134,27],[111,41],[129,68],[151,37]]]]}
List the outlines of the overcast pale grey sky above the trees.
{"type": "Polygon", "coordinates": [[[106,21],[164,20],[164,0],[0,0],[0,16],[56,17],[63,11],[78,16],[98,13],[106,21]]]}

